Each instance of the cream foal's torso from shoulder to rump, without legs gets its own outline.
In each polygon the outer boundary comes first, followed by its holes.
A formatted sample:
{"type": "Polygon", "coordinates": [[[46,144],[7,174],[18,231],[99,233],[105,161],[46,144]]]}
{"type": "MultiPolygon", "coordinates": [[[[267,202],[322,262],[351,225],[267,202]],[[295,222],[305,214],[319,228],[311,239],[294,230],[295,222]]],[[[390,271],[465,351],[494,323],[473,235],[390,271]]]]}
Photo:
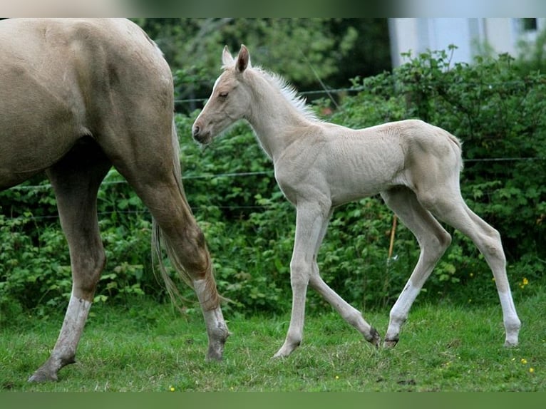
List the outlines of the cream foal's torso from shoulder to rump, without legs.
{"type": "Polygon", "coordinates": [[[277,181],[294,203],[294,191],[308,195],[318,189],[338,206],[399,185],[419,190],[430,178],[458,185],[458,139],[422,120],[359,130],[316,121],[296,139],[275,161],[277,181]]]}

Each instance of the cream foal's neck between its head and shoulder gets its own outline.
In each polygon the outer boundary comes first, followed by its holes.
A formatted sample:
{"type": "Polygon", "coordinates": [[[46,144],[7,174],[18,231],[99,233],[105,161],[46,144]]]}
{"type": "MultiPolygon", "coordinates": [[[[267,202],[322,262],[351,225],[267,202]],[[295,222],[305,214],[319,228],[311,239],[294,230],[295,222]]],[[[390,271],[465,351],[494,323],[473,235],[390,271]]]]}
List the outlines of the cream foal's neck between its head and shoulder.
{"type": "Polygon", "coordinates": [[[298,137],[297,128],[309,125],[311,119],[266,77],[267,74],[253,74],[251,86],[254,98],[247,120],[264,151],[274,160],[298,137]]]}

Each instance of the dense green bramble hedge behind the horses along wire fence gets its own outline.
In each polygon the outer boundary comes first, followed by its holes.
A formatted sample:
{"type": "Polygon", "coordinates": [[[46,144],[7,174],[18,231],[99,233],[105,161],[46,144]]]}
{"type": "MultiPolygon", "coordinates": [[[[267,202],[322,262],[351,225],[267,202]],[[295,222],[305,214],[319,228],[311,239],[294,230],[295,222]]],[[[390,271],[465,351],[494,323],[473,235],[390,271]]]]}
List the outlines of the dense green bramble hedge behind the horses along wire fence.
{"type": "MultiPolygon", "coordinates": [[[[331,110],[325,120],[351,128],[421,118],[463,140],[463,196],[500,230],[515,299],[532,293],[538,286],[525,283],[545,280],[546,77],[506,55],[478,58],[472,65],[452,64],[450,50],[406,57],[392,73],[355,78],[354,92],[339,100],[339,109],[317,101],[317,112],[331,110]]],[[[219,289],[233,301],[225,309],[287,311],[294,208],[247,125],[236,125],[201,150],[190,137],[196,115],[176,116],[182,175],[214,258],[219,289]]],[[[58,222],[49,218],[54,198],[46,187],[33,180],[0,192],[0,321],[28,309],[46,316],[68,298],[68,250],[58,222]],[[34,187],[37,183],[41,186],[34,187]]],[[[96,301],[123,303],[133,294],[165,299],[151,273],[150,216],[117,172],[105,180],[98,207],[108,263],[96,301]]],[[[319,267],[325,281],[359,308],[391,305],[416,264],[416,240],[401,224],[389,254],[392,229],[393,215],[378,197],[334,212],[319,267]]],[[[418,302],[495,301],[483,257],[468,239],[450,232],[453,244],[418,302]]],[[[183,291],[191,308],[195,296],[183,291]]],[[[309,294],[309,309],[323,304],[309,294]]]]}

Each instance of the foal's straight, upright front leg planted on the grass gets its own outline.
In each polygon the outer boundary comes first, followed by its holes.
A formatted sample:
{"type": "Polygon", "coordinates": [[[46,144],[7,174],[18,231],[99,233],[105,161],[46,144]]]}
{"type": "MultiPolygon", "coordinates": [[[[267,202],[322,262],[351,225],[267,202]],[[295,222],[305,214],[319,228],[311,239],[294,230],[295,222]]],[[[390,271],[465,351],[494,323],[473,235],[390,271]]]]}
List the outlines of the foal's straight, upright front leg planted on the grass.
{"type": "Polygon", "coordinates": [[[292,286],[292,314],[287,338],[274,358],[289,356],[303,339],[305,319],[305,297],[311,277],[316,243],[321,239],[323,224],[329,212],[316,203],[299,203],[296,216],[294,252],[290,262],[290,284],[292,286]]]}

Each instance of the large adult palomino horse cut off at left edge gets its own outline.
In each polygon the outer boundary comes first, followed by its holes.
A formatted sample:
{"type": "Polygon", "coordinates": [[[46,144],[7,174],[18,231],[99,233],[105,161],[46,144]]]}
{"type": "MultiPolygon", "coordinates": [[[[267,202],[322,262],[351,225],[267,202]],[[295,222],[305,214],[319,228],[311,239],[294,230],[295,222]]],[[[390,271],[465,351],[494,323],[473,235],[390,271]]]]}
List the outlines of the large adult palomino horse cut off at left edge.
{"type": "Polygon", "coordinates": [[[0,23],[0,55],[0,188],[46,171],[73,278],[55,347],[29,380],[56,380],[76,357],[105,265],[96,198],[112,166],[150,209],[155,249],[162,239],[195,289],[207,358],[220,360],[229,332],[205,238],[182,188],[172,76],[163,54],[125,19],[8,19],[0,23]]]}

